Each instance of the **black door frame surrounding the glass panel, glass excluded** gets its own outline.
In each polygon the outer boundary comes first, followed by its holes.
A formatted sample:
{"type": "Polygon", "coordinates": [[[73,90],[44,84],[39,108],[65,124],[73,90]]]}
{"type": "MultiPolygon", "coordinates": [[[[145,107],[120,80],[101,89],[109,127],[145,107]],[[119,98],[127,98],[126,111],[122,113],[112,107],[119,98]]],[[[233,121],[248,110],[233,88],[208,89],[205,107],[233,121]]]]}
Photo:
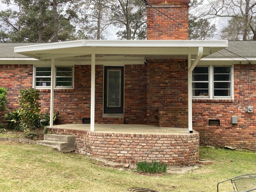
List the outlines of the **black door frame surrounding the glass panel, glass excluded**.
{"type": "Polygon", "coordinates": [[[103,78],[103,113],[123,114],[124,113],[124,66],[104,66],[103,78]],[[107,107],[107,69],[121,69],[121,101],[120,107],[107,107]]]}

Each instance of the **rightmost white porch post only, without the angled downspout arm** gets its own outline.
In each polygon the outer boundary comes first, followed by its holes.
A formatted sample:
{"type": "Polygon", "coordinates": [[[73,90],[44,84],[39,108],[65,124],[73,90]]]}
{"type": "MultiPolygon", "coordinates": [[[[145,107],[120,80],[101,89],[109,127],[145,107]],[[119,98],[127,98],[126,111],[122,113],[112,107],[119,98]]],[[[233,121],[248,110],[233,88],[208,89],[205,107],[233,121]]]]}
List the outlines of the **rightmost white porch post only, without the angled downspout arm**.
{"type": "MultiPolygon", "coordinates": [[[[191,67],[191,52],[188,55],[188,69],[191,67]]],[[[193,133],[192,127],[192,71],[188,70],[188,117],[189,133],[193,133]]]]}

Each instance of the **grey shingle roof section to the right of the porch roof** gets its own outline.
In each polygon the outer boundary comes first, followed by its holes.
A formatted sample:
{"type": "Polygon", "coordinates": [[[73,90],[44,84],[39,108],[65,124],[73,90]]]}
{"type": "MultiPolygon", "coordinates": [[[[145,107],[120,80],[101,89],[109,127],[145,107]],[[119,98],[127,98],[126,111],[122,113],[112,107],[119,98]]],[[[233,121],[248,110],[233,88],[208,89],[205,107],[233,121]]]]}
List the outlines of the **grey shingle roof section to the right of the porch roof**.
{"type": "Polygon", "coordinates": [[[256,57],[256,41],[229,41],[226,49],[222,49],[207,57],[256,57]]]}

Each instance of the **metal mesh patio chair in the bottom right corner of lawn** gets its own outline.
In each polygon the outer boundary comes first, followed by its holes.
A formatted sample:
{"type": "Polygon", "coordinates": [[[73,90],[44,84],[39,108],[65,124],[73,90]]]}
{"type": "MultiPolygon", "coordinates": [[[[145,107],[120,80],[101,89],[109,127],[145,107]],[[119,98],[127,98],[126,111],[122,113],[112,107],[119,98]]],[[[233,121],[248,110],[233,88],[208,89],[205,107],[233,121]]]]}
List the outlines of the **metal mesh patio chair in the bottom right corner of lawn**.
{"type": "Polygon", "coordinates": [[[239,192],[247,192],[253,191],[256,192],[256,173],[240,175],[237,177],[233,177],[231,179],[227,179],[217,184],[217,192],[219,192],[219,184],[224,182],[231,182],[231,185],[234,191],[239,192]]]}

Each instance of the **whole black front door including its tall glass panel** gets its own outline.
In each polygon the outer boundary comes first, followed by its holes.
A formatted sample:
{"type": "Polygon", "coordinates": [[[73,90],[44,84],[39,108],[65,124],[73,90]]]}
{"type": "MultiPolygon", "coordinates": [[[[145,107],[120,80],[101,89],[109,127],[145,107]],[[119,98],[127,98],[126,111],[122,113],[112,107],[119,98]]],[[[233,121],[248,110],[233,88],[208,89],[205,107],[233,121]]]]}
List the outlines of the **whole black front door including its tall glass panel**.
{"type": "Polygon", "coordinates": [[[104,113],[124,112],[124,67],[104,67],[104,113]]]}

